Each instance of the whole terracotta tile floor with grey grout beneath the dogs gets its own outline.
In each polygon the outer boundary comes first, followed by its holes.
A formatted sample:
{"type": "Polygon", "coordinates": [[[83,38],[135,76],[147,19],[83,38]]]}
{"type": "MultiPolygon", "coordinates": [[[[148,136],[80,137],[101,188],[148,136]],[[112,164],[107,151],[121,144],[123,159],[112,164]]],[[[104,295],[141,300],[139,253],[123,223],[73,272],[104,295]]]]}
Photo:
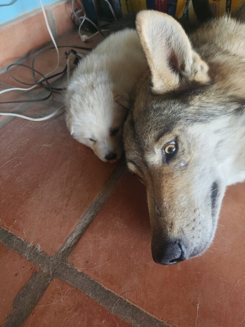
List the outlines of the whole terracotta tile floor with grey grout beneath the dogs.
{"type": "MultiPolygon", "coordinates": [[[[74,30],[57,43],[82,45],[74,30]]],[[[44,73],[55,64],[55,52],[37,57],[44,73]]],[[[13,73],[31,80],[23,68],[13,73]]],[[[19,85],[0,75],[0,90],[6,84],[19,85]]],[[[0,101],[40,94],[40,88],[17,91],[0,101]]],[[[0,110],[41,117],[62,98],[56,93],[43,103],[0,110]]],[[[145,188],[123,176],[123,160],[101,162],[72,139],[64,114],[44,122],[0,116],[0,138],[0,324],[245,326],[245,183],[228,188],[204,255],[160,266],[151,256],[145,188]]]]}

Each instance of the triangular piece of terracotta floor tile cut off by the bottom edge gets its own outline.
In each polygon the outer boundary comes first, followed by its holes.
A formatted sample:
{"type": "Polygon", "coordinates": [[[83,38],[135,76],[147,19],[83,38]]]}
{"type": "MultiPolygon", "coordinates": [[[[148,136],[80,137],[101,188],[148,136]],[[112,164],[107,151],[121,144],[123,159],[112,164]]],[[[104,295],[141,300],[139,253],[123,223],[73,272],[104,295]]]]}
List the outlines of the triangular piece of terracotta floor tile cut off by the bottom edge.
{"type": "Polygon", "coordinates": [[[72,286],[54,279],[23,327],[130,327],[72,286]]]}

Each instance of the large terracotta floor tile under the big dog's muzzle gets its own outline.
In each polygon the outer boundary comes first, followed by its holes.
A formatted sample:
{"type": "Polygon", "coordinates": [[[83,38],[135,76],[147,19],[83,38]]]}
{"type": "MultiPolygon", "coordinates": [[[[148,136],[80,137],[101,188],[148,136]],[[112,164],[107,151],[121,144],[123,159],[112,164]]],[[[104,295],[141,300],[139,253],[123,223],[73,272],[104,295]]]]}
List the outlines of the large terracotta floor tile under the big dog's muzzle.
{"type": "Polygon", "coordinates": [[[173,266],[155,264],[146,192],[127,175],[96,216],[69,263],[172,326],[243,326],[245,183],[227,190],[214,244],[173,266]],[[223,227],[225,226],[225,227],[223,227]]]}

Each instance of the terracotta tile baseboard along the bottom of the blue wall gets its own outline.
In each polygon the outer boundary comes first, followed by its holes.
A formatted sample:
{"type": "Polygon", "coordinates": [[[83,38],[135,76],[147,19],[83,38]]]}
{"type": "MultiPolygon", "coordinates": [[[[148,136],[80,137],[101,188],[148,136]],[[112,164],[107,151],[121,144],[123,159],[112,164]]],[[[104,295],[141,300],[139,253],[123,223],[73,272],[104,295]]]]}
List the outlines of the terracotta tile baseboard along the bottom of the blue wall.
{"type": "MultiPolygon", "coordinates": [[[[81,2],[76,0],[75,8],[81,6],[81,2]]],[[[74,26],[71,0],[57,1],[45,6],[45,10],[54,37],[74,26]]],[[[0,69],[49,41],[50,36],[40,8],[0,25],[0,69]]]]}

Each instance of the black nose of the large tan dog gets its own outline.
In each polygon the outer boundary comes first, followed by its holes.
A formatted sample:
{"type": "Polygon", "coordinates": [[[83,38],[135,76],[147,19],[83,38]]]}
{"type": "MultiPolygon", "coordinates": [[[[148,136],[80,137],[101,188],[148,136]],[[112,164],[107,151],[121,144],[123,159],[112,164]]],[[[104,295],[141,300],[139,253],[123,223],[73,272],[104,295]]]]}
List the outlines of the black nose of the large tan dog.
{"type": "Polygon", "coordinates": [[[153,260],[160,265],[173,265],[186,259],[186,250],[179,241],[152,243],[153,260]]]}

